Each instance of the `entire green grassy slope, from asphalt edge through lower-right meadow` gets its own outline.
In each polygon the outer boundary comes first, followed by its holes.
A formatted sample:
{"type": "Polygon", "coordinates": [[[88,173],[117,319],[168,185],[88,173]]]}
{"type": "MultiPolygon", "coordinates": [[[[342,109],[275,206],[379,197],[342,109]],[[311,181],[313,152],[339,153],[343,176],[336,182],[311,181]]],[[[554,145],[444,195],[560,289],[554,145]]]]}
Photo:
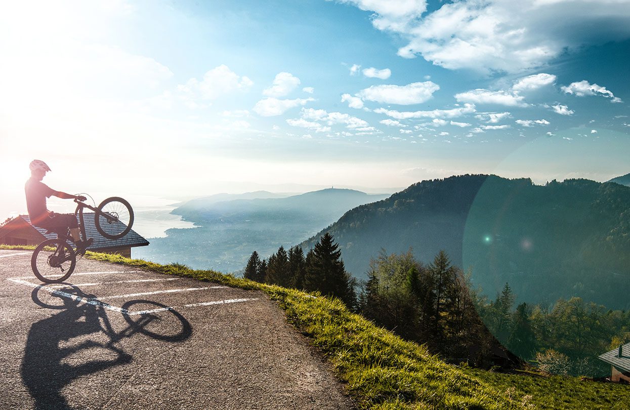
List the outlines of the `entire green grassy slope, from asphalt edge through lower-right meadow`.
{"type": "MultiPolygon", "coordinates": [[[[0,249],[24,248],[0,245],[0,249]]],[[[183,265],[158,265],[98,253],[88,253],[88,258],[262,290],[278,301],[290,322],[312,338],[362,408],[623,409],[630,402],[630,388],[624,385],[581,382],[571,377],[505,375],[447,365],[424,346],[404,341],[348,312],[338,300],[183,265]]]]}

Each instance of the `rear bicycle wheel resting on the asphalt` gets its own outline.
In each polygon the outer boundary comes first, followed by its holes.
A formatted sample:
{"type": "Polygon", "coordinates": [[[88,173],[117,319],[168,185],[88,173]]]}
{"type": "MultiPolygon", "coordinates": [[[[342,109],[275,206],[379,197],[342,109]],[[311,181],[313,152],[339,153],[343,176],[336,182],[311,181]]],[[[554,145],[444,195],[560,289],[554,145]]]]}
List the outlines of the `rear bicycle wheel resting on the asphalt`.
{"type": "Polygon", "coordinates": [[[31,256],[31,269],[33,273],[35,273],[35,276],[44,283],[64,282],[72,275],[76,263],[76,253],[74,253],[72,247],[62,239],[47,239],[43,241],[35,248],[31,256]],[[60,245],[62,245],[61,248],[64,249],[64,254],[69,255],[69,259],[59,264],[54,263],[54,259],[52,258],[59,256],[60,245]],[[44,249],[47,246],[54,248],[54,251],[44,249]],[[51,265],[51,262],[53,262],[54,265],[51,265]],[[50,277],[57,275],[60,276],[58,278],[50,277]]]}

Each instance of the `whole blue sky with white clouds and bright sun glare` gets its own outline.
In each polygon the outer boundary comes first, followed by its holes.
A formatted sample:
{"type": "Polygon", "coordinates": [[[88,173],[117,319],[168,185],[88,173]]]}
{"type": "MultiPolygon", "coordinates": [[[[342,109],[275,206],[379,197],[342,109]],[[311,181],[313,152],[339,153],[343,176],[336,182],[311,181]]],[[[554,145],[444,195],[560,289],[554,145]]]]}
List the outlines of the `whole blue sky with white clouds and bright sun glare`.
{"type": "Polygon", "coordinates": [[[32,159],[101,199],[630,172],[629,0],[5,1],[0,30],[0,219],[32,159]]]}

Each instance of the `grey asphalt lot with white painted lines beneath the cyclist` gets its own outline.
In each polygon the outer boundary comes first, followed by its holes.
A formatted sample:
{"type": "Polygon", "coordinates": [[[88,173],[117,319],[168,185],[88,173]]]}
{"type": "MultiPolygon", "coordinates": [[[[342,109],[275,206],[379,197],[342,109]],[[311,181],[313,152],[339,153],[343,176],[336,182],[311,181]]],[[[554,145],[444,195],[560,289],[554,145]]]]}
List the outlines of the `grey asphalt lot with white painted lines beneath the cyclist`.
{"type": "Polygon", "coordinates": [[[1,409],[349,409],[262,292],[81,259],[45,285],[0,250],[1,409]]]}

